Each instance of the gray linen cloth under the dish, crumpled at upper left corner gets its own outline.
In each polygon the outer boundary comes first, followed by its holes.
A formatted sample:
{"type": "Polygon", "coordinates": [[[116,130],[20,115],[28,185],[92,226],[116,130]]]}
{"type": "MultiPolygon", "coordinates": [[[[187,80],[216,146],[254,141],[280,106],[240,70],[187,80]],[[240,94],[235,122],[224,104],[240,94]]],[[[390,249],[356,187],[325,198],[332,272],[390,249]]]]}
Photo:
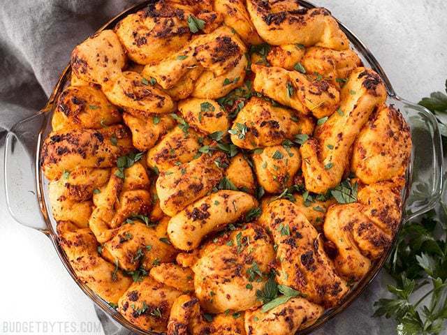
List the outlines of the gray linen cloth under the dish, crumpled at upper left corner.
{"type": "MultiPolygon", "coordinates": [[[[71,50],[138,0],[10,0],[0,6],[0,144],[13,124],[36,113],[50,96],[71,50]]],[[[337,318],[314,334],[394,334],[390,320],[371,318],[389,282],[381,273],[337,318]]],[[[61,301],[63,304],[63,301],[61,301]]],[[[130,334],[96,308],[106,335],[130,334]]]]}

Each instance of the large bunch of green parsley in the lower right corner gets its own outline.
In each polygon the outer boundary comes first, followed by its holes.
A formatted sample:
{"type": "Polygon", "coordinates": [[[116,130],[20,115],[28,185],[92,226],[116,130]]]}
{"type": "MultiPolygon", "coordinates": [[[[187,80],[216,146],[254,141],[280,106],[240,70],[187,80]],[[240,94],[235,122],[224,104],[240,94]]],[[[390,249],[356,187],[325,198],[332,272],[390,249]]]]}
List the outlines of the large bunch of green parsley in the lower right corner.
{"type": "Polygon", "coordinates": [[[397,320],[397,334],[441,334],[447,321],[447,216],[431,211],[406,223],[386,263],[396,285],[391,299],[379,299],[374,316],[397,320]]]}

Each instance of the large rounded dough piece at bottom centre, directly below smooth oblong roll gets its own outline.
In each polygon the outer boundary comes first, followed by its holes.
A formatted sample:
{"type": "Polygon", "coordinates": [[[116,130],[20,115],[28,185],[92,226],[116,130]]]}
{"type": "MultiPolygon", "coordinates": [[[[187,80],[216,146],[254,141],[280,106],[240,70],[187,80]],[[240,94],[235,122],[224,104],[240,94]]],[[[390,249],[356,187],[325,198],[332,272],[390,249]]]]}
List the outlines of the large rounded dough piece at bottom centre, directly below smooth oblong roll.
{"type": "Polygon", "coordinates": [[[210,313],[261,306],[256,291],[263,290],[275,256],[267,232],[259,225],[248,225],[217,243],[205,248],[193,267],[200,306],[210,313]]]}

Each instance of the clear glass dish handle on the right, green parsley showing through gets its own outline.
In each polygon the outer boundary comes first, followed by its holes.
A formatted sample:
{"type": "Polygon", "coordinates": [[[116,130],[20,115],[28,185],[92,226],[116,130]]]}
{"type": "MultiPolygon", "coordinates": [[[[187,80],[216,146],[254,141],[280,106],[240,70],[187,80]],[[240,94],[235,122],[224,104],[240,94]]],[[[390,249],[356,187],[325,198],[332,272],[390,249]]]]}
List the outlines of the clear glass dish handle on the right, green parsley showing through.
{"type": "Polygon", "coordinates": [[[399,96],[388,99],[402,112],[411,128],[413,150],[409,169],[408,198],[403,221],[432,209],[441,198],[443,156],[441,133],[437,119],[425,107],[410,103],[399,96]]]}

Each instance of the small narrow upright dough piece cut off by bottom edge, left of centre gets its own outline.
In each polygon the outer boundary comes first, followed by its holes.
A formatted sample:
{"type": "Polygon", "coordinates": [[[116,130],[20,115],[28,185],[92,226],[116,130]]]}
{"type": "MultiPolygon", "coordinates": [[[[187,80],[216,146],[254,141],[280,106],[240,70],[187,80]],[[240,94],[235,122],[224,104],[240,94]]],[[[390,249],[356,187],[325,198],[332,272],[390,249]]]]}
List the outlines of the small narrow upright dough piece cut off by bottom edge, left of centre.
{"type": "Polygon", "coordinates": [[[179,296],[170,308],[168,335],[189,335],[188,326],[193,315],[198,315],[199,305],[196,297],[179,296]]]}

